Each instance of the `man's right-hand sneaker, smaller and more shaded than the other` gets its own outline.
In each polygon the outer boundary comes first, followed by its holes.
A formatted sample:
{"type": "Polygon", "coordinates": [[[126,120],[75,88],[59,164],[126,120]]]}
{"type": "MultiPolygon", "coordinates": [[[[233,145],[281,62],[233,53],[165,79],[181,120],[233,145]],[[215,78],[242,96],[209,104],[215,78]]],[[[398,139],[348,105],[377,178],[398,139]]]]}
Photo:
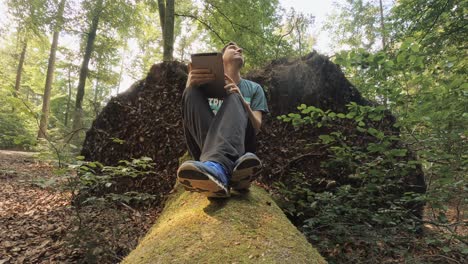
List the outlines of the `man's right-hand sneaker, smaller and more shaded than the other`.
{"type": "Polygon", "coordinates": [[[250,188],[250,184],[262,171],[262,162],[253,153],[247,152],[234,164],[231,187],[235,190],[250,188]]]}

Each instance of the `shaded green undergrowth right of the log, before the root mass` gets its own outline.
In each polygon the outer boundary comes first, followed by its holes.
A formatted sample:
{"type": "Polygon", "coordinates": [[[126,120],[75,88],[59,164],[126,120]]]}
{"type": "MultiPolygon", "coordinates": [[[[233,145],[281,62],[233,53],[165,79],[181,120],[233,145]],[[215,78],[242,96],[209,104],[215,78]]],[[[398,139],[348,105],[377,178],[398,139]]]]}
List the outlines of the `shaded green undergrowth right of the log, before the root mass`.
{"type": "MultiPolygon", "coordinates": [[[[382,106],[351,103],[347,113],[334,113],[302,104],[298,110],[278,119],[292,123],[296,130],[323,132],[308,147],[325,147],[327,157],[320,166],[328,175],[317,178],[296,166],[286,180],[274,185],[275,198],[330,263],[463,260],[468,253],[466,236],[424,232],[424,204],[450,201],[443,200],[440,190],[436,195],[433,190],[425,193],[424,180],[417,176],[420,162],[401,143],[398,128],[384,129],[392,122],[382,106]],[[323,181],[326,187],[318,190],[323,181]]],[[[462,185],[447,182],[450,190],[461,193],[462,185]]],[[[436,220],[431,224],[444,231],[463,225],[460,219],[449,222],[447,207],[439,206],[432,213],[436,220]]]]}

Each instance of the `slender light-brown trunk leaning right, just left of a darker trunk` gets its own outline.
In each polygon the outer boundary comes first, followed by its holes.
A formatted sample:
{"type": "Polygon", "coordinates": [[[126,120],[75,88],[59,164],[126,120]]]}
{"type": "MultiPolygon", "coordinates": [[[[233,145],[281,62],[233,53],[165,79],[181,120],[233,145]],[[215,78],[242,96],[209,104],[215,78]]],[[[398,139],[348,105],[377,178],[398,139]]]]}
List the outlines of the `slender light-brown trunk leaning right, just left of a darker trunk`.
{"type": "Polygon", "coordinates": [[[52,91],[52,82],[54,79],[55,70],[55,54],[57,53],[58,38],[62,27],[63,10],[65,8],[65,0],[61,0],[57,11],[56,26],[52,37],[52,45],[50,47],[49,64],[47,66],[46,83],[44,87],[44,97],[42,99],[42,115],[39,123],[38,138],[45,138],[47,134],[47,125],[49,123],[50,111],[50,94],[52,91]]]}

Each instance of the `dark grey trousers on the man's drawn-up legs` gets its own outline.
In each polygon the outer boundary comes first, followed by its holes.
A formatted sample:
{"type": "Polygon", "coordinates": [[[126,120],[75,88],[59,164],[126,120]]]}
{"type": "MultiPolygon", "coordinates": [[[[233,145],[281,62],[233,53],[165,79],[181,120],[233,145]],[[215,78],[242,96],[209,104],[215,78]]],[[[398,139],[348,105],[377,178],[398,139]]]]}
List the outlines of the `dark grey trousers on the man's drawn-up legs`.
{"type": "Polygon", "coordinates": [[[238,94],[224,98],[216,116],[199,89],[185,89],[182,98],[185,138],[195,160],[215,161],[231,172],[241,155],[255,152],[255,130],[238,94]]]}

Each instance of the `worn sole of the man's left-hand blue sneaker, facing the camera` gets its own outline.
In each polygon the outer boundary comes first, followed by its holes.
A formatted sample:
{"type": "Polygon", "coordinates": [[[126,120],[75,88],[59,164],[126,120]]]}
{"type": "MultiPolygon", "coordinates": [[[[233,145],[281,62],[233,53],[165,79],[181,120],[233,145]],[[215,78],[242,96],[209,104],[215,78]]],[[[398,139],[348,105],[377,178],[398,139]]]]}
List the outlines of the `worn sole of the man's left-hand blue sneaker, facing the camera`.
{"type": "Polygon", "coordinates": [[[210,174],[193,164],[183,164],[177,172],[177,179],[185,190],[198,192],[206,197],[229,197],[229,191],[210,174]]]}

